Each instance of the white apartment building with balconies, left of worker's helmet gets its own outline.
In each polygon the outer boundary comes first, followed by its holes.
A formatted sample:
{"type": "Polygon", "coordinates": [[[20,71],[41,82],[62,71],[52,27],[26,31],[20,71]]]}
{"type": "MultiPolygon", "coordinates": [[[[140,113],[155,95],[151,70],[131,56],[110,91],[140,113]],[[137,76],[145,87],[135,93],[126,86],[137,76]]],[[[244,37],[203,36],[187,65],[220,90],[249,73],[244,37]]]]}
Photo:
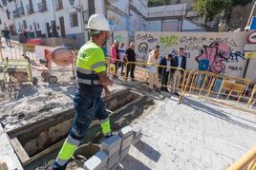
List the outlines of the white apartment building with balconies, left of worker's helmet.
{"type": "Polygon", "coordinates": [[[30,37],[75,38],[85,40],[85,28],[92,13],[103,13],[104,0],[0,0],[1,28],[12,35],[26,29],[30,37]]]}

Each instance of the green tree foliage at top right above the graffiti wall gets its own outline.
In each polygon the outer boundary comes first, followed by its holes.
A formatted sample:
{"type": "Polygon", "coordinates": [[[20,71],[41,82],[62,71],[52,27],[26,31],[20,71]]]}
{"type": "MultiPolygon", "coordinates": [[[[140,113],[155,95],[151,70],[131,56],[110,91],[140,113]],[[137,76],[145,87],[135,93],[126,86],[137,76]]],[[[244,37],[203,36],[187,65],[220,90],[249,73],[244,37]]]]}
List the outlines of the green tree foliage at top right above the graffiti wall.
{"type": "Polygon", "coordinates": [[[205,16],[205,22],[212,21],[223,10],[229,12],[231,8],[231,0],[197,0],[194,5],[194,9],[205,16]]]}

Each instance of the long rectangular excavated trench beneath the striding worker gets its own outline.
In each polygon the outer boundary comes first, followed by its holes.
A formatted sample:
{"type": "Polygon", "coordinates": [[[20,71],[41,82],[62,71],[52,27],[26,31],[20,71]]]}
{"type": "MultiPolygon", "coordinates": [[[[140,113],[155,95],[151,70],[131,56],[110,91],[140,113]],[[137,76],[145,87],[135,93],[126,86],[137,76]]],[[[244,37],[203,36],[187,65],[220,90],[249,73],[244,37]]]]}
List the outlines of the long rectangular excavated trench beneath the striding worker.
{"type": "MultiPolygon", "coordinates": [[[[105,102],[114,132],[139,118],[148,105],[154,104],[147,96],[131,89],[119,91],[105,102]]],[[[25,169],[34,169],[55,158],[72,126],[74,115],[72,108],[8,132],[25,169]]],[[[100,125],[94,121],[82,143],[100,143],[102,137],[100,125]]]]}

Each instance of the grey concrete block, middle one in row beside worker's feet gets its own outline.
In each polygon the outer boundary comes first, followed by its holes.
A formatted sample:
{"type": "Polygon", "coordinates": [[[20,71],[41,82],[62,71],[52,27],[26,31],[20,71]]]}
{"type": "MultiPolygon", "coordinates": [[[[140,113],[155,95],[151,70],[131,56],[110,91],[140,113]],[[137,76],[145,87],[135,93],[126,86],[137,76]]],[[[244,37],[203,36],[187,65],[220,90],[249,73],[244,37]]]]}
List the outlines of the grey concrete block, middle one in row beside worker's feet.
{"type": "Polygon", "coordinates": [[[119,151],[121,145],[121,138],[114,135],[101,143],[103,151],[110,157],[117,151],[119,151]]]}

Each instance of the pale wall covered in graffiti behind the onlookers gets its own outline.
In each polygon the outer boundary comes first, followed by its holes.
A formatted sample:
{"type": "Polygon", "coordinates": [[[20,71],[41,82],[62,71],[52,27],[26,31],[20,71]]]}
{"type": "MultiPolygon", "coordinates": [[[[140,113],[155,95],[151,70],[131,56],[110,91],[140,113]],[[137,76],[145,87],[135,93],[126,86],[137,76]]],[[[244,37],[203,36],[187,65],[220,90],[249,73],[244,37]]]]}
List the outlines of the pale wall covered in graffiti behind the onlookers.
{"type": "Polygon", "coordinates": [[[142,60],[160,46],[160,57],[171,53],[177,55],[184,48],[187,69],[197,69],[200,60],[208,60],[208,70],[229,76],[243,76],[245,69],[246,32],[156,32],[139,31],[135,36],[136,52],[142,60]]]}

